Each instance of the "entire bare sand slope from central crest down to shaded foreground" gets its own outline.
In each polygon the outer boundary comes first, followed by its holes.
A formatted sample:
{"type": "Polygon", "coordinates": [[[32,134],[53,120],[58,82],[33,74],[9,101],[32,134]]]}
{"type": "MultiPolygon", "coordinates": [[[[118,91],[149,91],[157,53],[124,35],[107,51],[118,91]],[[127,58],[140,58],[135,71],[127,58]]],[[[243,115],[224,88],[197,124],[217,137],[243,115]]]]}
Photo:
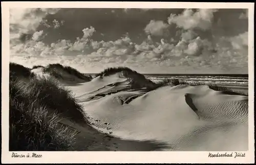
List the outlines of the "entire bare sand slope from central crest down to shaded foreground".
{"type": "Polygon", "coordinates": [[[90,126],[78,126],[62,121],[80,131],[81,150],[248,149],[247,96],[188,85],[131,90],[127,79],[118,74],[68,87],[90,122],[90,126]]]}

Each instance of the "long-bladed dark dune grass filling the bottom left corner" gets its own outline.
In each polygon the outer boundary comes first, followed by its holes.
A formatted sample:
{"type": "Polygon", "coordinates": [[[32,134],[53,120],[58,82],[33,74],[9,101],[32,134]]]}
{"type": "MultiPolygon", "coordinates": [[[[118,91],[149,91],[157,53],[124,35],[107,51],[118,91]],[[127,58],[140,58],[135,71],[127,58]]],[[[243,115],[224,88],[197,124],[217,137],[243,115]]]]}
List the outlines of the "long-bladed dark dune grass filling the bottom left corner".
{"type": "Polygon", "coordinates": [[[9,150],[70,151],[74,149],[75,133],[57,128],[56,113],[36,96],[26,93],[20,80],[10,80],[9,150]]]}

